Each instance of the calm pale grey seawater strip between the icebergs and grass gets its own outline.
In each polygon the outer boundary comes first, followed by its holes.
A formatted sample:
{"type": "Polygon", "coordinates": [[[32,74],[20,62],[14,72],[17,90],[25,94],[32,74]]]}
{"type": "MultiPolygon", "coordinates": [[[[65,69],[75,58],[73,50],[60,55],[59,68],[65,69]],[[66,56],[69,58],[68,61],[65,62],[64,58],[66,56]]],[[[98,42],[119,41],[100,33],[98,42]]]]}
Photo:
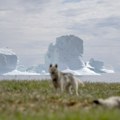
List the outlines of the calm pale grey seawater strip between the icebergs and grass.
{"type": "MultiPolygon", "coordinates": [[[[76,76],[87,82],[120,83],[120,73],[76,76]]],[[[0,80],[46,80],[49,75],[0,75],[0,80]]]]}

